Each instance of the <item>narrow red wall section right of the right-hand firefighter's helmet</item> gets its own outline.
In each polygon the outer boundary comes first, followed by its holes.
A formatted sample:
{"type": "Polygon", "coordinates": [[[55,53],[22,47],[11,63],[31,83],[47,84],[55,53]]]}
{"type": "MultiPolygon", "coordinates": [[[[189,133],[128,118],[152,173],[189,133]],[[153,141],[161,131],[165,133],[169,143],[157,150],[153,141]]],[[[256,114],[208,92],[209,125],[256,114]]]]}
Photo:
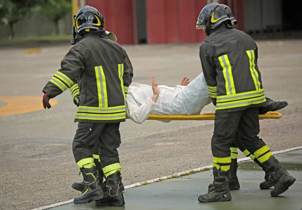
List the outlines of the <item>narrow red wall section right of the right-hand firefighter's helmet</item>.
{"type": "Polygon", "coordinates": [[[227,5],[232,11],[237,20],[237,27],[241,31],[245,31],[244,26],[244,1],[242,0],[219,0],[220,4],[227,5]]]}

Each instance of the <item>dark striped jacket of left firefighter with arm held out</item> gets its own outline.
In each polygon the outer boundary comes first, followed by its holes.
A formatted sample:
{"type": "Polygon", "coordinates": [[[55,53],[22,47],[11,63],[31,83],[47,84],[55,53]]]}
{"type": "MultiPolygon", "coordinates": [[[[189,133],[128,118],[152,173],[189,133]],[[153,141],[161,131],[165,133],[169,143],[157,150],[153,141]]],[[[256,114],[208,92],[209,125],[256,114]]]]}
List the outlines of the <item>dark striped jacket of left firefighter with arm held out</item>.
{"type": "Polygon", "coordinates": [[[124,122],[125,93],[132,76],[125,50],[109,40],[105,31],[91,32],[69,50],[43,92],[53,98],[68,88],[77,94],[80,88],[75,122],[124,122]]]}

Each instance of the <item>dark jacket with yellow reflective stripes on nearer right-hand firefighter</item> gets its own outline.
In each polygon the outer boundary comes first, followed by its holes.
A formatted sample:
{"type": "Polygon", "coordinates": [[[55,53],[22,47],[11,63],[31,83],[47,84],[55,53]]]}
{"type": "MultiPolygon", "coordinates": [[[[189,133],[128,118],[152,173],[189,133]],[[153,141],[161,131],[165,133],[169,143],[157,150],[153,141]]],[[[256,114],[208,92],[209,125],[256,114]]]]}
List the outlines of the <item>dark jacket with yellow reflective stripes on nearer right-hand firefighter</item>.
{"type": "Polygon", "coordinates": [[[201,43],[199,57],[216,113],[263,106],[258,47],[249,35],[221,25],[201,43]]]}

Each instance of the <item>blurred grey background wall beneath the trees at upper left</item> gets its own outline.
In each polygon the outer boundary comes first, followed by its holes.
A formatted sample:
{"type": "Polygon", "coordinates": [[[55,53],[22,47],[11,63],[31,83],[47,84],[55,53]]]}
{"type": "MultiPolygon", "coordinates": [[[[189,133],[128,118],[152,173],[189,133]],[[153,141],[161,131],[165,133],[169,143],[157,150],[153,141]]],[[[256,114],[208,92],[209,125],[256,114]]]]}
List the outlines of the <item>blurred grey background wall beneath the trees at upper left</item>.
{"type": "MultiPolygon", "coordinates": [[[[59,21],[60,35],[71,34],[72,17],[71,12],[59,21]]],[[[2,39],[10,35],[9,26],[0,24],[2,39]]],[[[15,37],[27,36],[51,36],[55,35],[54,24],[38,12],[34,12],[31,17],[27,17],[14,25],[15,37]]]]}

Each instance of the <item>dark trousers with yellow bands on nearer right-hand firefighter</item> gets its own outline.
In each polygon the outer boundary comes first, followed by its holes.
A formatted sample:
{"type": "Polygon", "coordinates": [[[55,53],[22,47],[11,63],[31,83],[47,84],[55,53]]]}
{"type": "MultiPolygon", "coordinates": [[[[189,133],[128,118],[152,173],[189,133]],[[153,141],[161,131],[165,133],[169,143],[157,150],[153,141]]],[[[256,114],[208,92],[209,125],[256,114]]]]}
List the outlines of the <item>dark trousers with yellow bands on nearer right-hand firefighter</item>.
{"type": "Polygon", "coordinates": [[[236,145],[236,140],[240,141],[243,148],[253,154],[260,163],[268,160],[272,153],[258,137],[259,132],[258,108],[216,113],[211,141],[213,167],[223,171],[230,170],[231,145],[236,145]]]}

